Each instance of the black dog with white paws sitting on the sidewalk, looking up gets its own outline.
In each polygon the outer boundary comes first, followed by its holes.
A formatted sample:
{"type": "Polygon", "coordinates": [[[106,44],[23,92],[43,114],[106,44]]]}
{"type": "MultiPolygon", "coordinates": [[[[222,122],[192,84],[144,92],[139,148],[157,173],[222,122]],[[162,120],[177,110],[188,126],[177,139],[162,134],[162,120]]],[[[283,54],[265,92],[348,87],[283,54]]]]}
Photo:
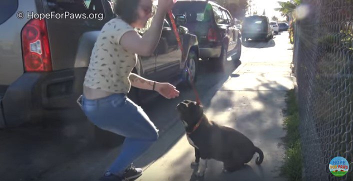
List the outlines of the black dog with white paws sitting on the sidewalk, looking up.
{"type": "Polygon", "coordinates": [[[186,129],[189,143],[195,148],[195,161],[198,164],[196,176],[202,176],[207,166],[207,159],[223,162],[223,171],[235,171],[259,154],[255,162],[260,164],[263,152],[254,146],[244,134],[233,128],[221,126],[209,121],[203,113],[202,105],[191,100],[183,100],[176,109],[186,129]],[[201,158],[201,160],[200,160],[201,158]]]}

